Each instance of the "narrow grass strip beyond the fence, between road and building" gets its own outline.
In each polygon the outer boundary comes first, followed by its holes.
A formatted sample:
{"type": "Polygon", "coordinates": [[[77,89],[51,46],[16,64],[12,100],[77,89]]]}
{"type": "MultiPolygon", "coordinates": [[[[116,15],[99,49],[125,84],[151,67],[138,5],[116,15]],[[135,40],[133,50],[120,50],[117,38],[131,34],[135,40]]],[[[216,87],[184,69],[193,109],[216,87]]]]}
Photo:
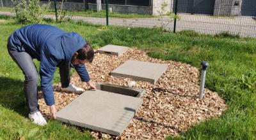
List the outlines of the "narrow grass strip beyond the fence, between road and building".
{"type": "MultiPolygon", "coordinates": [[[[4,7],[0,8],[0,11],[12,11],[13,8],[10,7],[4,7]]],[[[60,10],[58,10],[60,12],[60,10]]],[[[99,18],[106,18],[106,10],[102,11],[95,11],[95,10],[87,10],[87,11],[62,11],[61,14],[63,15],[63,12],[67,15],[67,17],[72,17],[72,16],[81,16],[81,17],[99,17],[99,18]]],[[[47,11],[46,14],[49,15],[55,15],[54,10],[49,10],[47,11]]],[[[60,14],[60,13],[58,13],[60,14]]],[[[118,13],[118,12],[109,12],[109,17],[112,18],[154,18],[156,16],[153,15],[143,15],[143,14],[135,14],[135,13],[118,13]]]]}

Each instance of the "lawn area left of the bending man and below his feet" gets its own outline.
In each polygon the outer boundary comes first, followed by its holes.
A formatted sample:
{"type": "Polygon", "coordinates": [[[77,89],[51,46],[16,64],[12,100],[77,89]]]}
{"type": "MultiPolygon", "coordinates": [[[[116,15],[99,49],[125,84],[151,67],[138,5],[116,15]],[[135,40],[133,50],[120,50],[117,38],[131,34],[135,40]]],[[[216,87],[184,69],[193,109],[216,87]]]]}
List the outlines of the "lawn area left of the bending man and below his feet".
{"type": "MultiPolygon", "coordinates": [[[[40,127],[28,120],[28,108],[24,103],[22,88],[24,76],[6,50],[8,36],[19,27],[21,25],[12,20],[0,21],[0,139],[19,139],[22,136],[29,138],[29,135],[34,139],[92,139],[88,130],[62,125],[56,121],[40,127]],[[35,128],[39,130],[35,131],[35,128]]],[[[39,62],[35,60],[35,64],[38,67],[39,62]]],[[[56,73],[54,82],[59,81],[60,77],[56,73]]]]}

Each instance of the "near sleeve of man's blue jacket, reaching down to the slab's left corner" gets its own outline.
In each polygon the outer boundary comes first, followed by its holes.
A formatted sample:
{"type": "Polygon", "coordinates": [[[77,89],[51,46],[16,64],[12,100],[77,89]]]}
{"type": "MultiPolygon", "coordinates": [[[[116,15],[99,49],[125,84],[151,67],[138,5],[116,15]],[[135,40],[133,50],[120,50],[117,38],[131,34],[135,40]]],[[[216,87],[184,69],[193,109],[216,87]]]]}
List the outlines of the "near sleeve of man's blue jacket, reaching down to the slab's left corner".
{"type": "Polygon", "coordinates": [[[45,56],[44,53],[41,54],[40,58],[40,77],[41,77],[41,88],[44,94],[45,103],[47,106],[52,106],[55,104],[52,80],[54,77],[54,72],[58,64],[58,60],[53,56],[45,56]]]}

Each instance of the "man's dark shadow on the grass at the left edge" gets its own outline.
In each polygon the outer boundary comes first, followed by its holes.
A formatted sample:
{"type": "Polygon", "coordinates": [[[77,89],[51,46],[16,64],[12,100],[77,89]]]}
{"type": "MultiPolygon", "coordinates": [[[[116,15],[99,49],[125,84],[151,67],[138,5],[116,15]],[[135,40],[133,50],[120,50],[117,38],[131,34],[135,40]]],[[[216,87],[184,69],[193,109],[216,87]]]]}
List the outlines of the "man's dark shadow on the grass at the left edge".
{"type": "Polygon", "coordinates": [[[28,116],[29,109],[24,95],[24,82],[0,77],[0,104],[22,116],[28,116]]]}

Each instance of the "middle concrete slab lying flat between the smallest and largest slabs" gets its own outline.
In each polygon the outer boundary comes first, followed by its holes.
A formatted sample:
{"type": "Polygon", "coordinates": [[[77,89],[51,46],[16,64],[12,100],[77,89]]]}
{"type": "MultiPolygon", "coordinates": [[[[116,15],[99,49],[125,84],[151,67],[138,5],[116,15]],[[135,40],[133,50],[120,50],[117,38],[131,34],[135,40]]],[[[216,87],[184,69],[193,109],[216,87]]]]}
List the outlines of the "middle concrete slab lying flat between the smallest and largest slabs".
{"type": "Polygon", "coordinates": [[[114,69],[111,75],[148,81],[155,84],[167,67],[168,64],[127,60],[124,64],[114,69]]]}

